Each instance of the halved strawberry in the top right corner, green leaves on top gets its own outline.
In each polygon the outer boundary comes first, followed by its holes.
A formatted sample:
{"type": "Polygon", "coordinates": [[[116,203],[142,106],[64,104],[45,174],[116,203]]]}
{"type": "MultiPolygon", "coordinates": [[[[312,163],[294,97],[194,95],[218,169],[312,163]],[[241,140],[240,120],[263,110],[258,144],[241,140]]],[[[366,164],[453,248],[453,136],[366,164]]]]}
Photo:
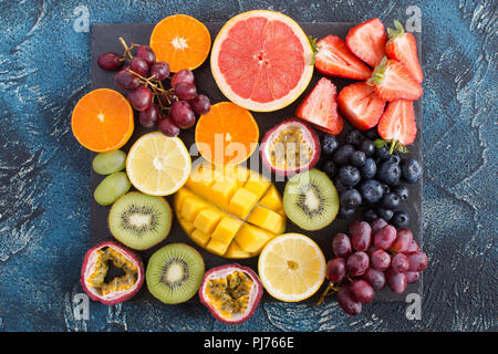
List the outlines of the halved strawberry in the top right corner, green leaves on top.
{"type": "Polygon", "coordinates": [[[412,33],[403,30],[400,21],[394,21],[395,30],[387,29],[388,41],[385,45],[385,53],[388,58],[402,62],[408,73],[417,83],[422,83],[424,75],[418,63],[417,43],[412,33]]]}

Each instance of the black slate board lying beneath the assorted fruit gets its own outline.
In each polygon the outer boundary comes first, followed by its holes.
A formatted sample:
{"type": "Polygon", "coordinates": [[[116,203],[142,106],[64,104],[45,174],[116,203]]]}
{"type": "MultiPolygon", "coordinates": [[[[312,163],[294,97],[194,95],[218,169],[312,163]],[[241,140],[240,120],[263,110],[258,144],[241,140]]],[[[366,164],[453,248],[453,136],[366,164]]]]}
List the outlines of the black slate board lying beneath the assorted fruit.
{"type": "MultiPolygon", "coordinates": [[[[353,23],[347,22],[321,22],[321,23],[300,23],[302,29],[308,35],[312,35],[313,38],[321,39],[329,34],[339,35],[342,39],[345,39],[345,35],[347,31],[354,27],[353,23]]],[[[211,41],[215,40],[219,29],[222,27],[221,22],[211,22],[206,23],[206,27],[208,28],[210,34],[211,34],[211,41]]],[[[124,91],[120,90],[114,84],[114,74],[105,72],[101,70],[97,64],[97,56],[101,53],[104,52],[116,52],[122,53],[123,46],[118,42],[118,38],[122,37],[128,45],[131,43],[138,43],[138,44],[148,44],[148,40],[151,37],[151,33],[154,29],[154,24],[152,23],[105,23],[105,24],[94,24],[92,27],[92,90],[101,88],[101,87],[108,87],[114,88],[117,91],[121,91],[122,93],[125,93],[124,91]]],[[[414,33],[416,40],[417,40],[417,46],[418,46],[418,54],[421,55],[421,35],[419,33],[414,33]]],[[[209,58],[206,60],[206,62],[195,70],[196,75],[196,82],[197,82],[197,90],[199,93],[206,94],[210,100],[211,104],[227,101],[227,98],[222,95],[222,93],[217,87],[215,80],[212,79],[210,67],[209,67],[209,58]]],[[[318,71],[314,72],[313,79],[308,86],[307,91],[303,93],[302,96],[304,96],[307,93],[309,93],[314,84],[318,82],[318,80],[322,75],[318,73],[318,71]]],[[[338,79],[332,77],[332,82],[338,87],[338,93],[340,90],[354,81],[351,80],[344,80],[344,79],[338,79]]],[[[301,96],[301,97],[302,97],[301,96]]],[[[256,121],[258,122],[259,129],[260,129],[260,138],[264,136],[264,133],[281,122],[284,118],[289,118],[293,116],[293,113],[295,111],[297,105],[299,104],[301,100],[297,100],[293,104],[289,105],[288,107],[272,112],[272,113],[252,113],[256,121]]],[[[421,100],[415,102],[415,114],[417,119],[417,128],[418,134],[415,143],[409,146],[409,155],[417,158],[422,163],[422,102],[421,100]]],[[[344,129],[343,132],[338,136],[339,140],[342,142],[344,137],[346,136],[347,132],[351,131],[351,125],[347,122],[344,122],[344,129]]],[[[143,128],[138,123],[135,124],[135,132],[133,136],[131,137],[129,142],[122,148],[124,152],[127,152],[129,147],[133,145],[133,143],[143,134],[153,132],[154,129],[147,129],[143,128]]],[[[319,135],[322,133],[318,132],[319,135]]],[[[191,144],[194,144],[194,128],[190,128],[188,131],[183,131],[179,135],[179,137],[184,140],[187,148],[190,148],[191,144]]],[[[255,153],[257,154],[257,153],[255,153]]],[[[92,155],[93,158],[94,155],[92,155]]],[[[193,163],[197,157],[193,157],[193,163]]],[[[251,168],[255,168],[251,166],[251,168]]],[[[259,169],[260,171],[262,169],[259,169]]],[[[91,173],[91,190],[96,188],[98,183],[103,179],[103,176],[100,176],[95,174],[93,170],[91,173]]],[[[274,180],[274,178],[273,178],[274,180]]],[[[280,192],[283,192],[284,188],[284,181],[276,181],[276,185],[280,192]]],[[[422,244],[422,180],[418,181],[415,185],[407,185],[409,189],[409,199],[408,202],[405,202],[401,209],[408,212],[411,225],[409,228],[412,229],[414,233],[414,238],[419,244],[422,244]]],[[[132,188],[133,190],[133,188],[132,188]]],[[[167,200],[173,205],[173,198],[172,196],[167,197],[167,200]]],[[[91,205],[91,226],[90,226],[90,232],[91,232],[91,241],[92,243],[96,243],[100,240],[112,238],[112,235],[108,231],[107,228],[107,214],[108,214],[110,207],[102,207],[98,206],[95,200],[92,197],[92,205],[91,205]]],[[[360,219],[361,215],[357,212],[357,215],[353,218],[360,219]]],[[[317,243],[321,247],[325,259],[329,260],[333,257],[332,254],[332,237],[338,232],[344,232],[347,230],[347,226],[352,220],[345,221],[341,219],[335,219],[329,227],[319,230],[319,231],[303,231],[297,226],[294,226],[291,221],[288,221],[288,226],[286,229],[286,232],[301,232],[304,235],[310,236],[313,240],[317,241],[317,243]]],[[[220,266],[220,264],[227,264],[231,263],[234,261],[237,261],[240,264],[249,266],[252,269],[257,271],[257,262],[258,258],[252,258],[248,260],[230,260],[226,258],[218,257],[216,254],[212,254],[197,244],[193,242],[187,235],[181,230],[179,225],[174,221],[174,225],[172,227],[172,231],[167,239],[159,243],[158,246],[147,250],[139,252],[141,256],[144,259],[144,263],[147,264],[147,260],[151,257],[151,254],[156,251],[158,248],[165,246],[169,242],[186,242],[188,244],[194,246],[196,249],[199,250],[199,252],[203,254],[206,269],[220,266]]],[[[324,287],[324,285],[323,285],[324,287]]],[[[408,293],[418,293],[422,294],[422,287],[423,281],[422,278],[416,284],[409,284],[405,294],[396,295],[393,292],[391,292],[388,289],[384,289],[381,292],[377,292],[375,294],[375,301],[377,302],[391,302],[391,301],[404,301],[406,294],[408,293]]],[[[308,300],[308,302],[315,302],[320,295],[322,290],[317,292],[312,298],[308,300]]],[[[131,301],[141,301],[141,300],[149,300],[154,299],[151,293],[146,290],[146,285],[144,284],[143,289],[139,291],[139,293],[133,298],[131,301]]],[[[190,302],[198,301],[197,295],[194,296],[190,302]]],[[[277,301],[272,296],[270,296],[268,293],[264,293],[263,301],[277,301]]]]}

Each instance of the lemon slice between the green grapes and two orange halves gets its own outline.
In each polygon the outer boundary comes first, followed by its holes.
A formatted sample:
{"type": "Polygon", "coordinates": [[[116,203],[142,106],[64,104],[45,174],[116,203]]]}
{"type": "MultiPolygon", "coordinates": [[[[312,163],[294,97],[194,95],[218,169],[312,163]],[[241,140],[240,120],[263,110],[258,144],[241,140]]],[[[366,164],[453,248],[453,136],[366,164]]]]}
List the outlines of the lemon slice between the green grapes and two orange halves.
{"type": "Polygon", "coordinates": [[[190,155],[184,143],[160,132],[138,138],[126,158],[129,181],[151,196],[168,196],[177,191],[186,183],[190,168],[190,155]]]}

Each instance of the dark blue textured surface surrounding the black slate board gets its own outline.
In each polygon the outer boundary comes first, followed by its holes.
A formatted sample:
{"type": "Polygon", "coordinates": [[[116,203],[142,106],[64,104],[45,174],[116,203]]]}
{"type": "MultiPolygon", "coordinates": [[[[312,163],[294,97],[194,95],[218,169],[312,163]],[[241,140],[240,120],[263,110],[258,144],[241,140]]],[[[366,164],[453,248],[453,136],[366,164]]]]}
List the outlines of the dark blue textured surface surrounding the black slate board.
{"type": "Polygon", "coordinates": [[[1,331],[486,331],[497,330],[496,1],[0,1],[1,331]],[[367,3],[366,3],[367,2],[367,3]],[[172,13],[226,21],[251,9],[299,21],[391,24],[422,10],[424,81],[424,275],[421,321],[406,303],[370,304],[345,315],[268,303],[238,327],[200,304],[90,304],[73,315],[90,248],[90,154],[70,115],[90,90],[90,23],[157,22],[172,13]]]}

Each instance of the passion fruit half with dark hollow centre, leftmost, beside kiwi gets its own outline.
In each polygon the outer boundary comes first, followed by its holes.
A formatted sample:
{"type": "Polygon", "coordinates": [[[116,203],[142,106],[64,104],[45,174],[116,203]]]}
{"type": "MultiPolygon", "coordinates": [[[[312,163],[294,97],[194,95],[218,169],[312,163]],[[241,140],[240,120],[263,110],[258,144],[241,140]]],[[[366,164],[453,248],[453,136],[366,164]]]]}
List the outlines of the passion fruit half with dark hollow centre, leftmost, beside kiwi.
{"type": "Polygon", "coordinates": [[[90,299],[114,305],[131,299],[142,288],[144,264],[127,248],[103,241],[86,251],[80,282],[90,299]]]}

